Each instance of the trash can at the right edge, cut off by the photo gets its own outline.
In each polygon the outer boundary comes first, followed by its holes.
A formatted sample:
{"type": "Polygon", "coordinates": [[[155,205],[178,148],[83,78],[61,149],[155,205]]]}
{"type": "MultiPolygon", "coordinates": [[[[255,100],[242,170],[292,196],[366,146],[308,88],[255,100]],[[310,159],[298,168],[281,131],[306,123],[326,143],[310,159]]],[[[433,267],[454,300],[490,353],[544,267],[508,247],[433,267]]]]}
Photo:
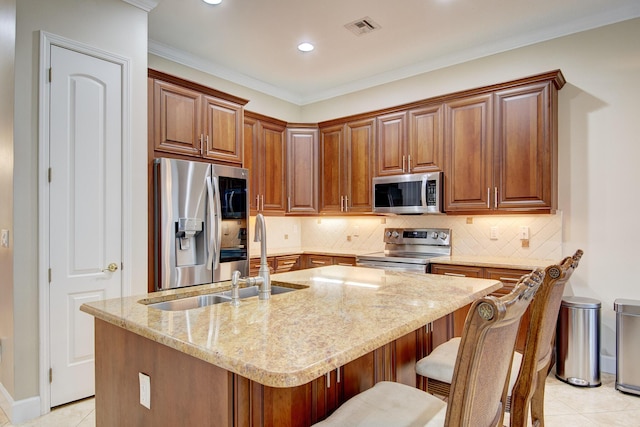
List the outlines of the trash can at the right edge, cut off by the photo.
{"type": "Polygon", "coordinates": [[[616,390],[640,395],[640,301],[617,299],[616,390]]]}

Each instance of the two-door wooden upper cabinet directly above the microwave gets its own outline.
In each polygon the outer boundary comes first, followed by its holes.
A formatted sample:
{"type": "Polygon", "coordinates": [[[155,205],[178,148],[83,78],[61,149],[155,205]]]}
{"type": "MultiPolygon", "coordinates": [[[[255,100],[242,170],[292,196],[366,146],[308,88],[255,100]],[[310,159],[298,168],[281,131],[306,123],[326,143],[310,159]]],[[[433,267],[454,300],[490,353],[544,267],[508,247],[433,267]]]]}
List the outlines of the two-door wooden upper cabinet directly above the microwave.
{"type": "Polygon", "coordinates": [[[442,104],[377,118],[377,176],[442,170],[442,104]]]}

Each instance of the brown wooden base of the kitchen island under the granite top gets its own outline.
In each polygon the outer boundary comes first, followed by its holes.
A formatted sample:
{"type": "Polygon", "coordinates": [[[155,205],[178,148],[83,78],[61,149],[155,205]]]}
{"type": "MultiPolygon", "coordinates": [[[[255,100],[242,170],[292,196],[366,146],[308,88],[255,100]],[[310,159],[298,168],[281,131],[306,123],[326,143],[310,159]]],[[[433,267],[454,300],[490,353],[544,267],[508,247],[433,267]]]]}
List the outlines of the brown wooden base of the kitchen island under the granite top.
{"type": "Polygon", "coordinates": [[[95,320],[96,425],[310,426],[379,381],[418,386],[420,328],[296,387],[267,387],[118,326],[95,320]],[[151,379],[151,408],[139,378],[151,379]]]}

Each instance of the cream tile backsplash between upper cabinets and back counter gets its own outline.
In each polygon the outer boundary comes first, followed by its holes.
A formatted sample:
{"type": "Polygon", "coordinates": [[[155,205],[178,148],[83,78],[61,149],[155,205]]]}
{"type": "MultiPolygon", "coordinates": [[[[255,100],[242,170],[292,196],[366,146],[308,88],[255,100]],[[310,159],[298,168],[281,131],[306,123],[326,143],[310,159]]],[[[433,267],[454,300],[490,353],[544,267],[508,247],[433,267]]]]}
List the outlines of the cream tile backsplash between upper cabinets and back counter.
{"type": "MultiPolygon", "coordinates": [[[[251,218],[253,239],[255,218],[251,218]]],[[[553,215],[398,215],[361,217],[266,217],[270,252],[323,249],[327,252],[376,252],[384,249],[387,227],[451,228],[454,255],[517,258],[562,257],[562,214],[553,215]],[[491,239],[495,227],[497,239],[491,239]],[[522,247],[520,227],[528,227],[529,247],[522,247]]],[[[251,244],[251,254],[259,247],[251,244]]]]}

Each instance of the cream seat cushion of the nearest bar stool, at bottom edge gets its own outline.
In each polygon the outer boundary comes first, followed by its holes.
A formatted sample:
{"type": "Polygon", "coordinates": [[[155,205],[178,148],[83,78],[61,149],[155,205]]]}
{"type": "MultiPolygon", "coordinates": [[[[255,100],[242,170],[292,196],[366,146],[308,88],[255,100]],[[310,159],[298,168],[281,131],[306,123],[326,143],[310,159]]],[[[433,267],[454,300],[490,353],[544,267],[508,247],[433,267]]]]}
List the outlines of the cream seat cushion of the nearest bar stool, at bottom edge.
{"type": "Polygon", "coordinates": [[[382,381],[352,397],[322,427],[443,426],[447,405],[417,388],[382,381]]]}

